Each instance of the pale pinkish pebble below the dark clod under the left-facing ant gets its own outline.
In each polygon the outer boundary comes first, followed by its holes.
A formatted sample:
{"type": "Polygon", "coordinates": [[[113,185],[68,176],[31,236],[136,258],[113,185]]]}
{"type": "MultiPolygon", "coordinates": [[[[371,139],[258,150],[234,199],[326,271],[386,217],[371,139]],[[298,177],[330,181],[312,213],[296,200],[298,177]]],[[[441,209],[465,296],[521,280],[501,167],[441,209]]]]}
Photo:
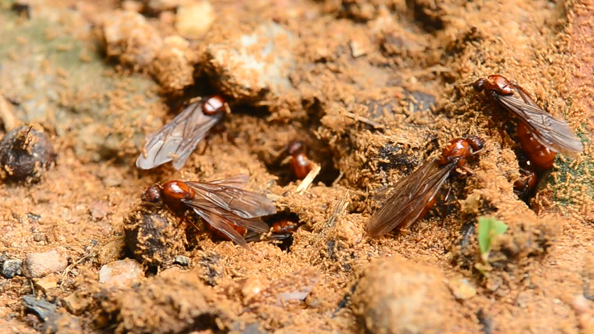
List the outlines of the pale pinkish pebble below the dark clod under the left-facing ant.
{"type": "Polygon", "coordinates": [[[132,259],[110,262],[99,271],[99,283],[121,289],[130,287],[143,277],[142,265],[132,259]]]}

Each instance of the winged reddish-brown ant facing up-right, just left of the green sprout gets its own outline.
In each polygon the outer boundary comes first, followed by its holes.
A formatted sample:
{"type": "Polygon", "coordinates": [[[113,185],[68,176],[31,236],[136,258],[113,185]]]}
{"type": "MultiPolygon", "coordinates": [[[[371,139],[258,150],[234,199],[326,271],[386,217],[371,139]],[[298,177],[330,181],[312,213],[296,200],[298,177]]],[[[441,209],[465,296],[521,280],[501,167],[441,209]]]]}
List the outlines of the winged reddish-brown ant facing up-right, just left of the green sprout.
{"type": "Polygon", "coordinates": [[[452,171],[460,168],[471,173],[466,168],[466,159],[480,152],[484,145],[485,141],[475,136],[453,139],[443,148],[440,157],[426,161],[411,175],[381,191],[379,197],[385,201],[367,223],[367,233],[374,238],[381,237],[395,228],[408,228],[425,216],[452,171]]]}

